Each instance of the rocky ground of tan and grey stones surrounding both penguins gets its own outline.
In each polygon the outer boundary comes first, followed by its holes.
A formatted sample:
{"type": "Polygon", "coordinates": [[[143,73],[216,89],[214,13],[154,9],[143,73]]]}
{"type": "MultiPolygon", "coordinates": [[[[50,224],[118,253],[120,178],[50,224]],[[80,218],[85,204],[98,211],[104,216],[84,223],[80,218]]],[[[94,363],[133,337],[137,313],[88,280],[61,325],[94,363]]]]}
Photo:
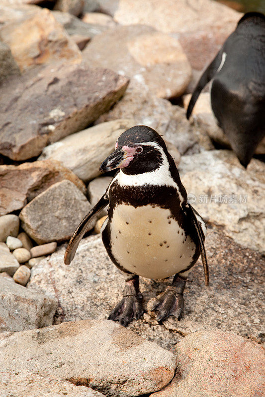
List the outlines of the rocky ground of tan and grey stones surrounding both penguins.
{"type": "Polygon", "coordinates": [[[245,170],[207,92],[184,110],[240,17],[212,0],[0,0],[1,397],[265,395],[265,141],[245,170]],[[210,285],[199,260],[183,317],[159,324],[171,280],[141,279],[144,315],[124,329],[106,320],[123,290],[106,209],[63,256],[137,124],[164,135],[207,221],[210,285]]]}

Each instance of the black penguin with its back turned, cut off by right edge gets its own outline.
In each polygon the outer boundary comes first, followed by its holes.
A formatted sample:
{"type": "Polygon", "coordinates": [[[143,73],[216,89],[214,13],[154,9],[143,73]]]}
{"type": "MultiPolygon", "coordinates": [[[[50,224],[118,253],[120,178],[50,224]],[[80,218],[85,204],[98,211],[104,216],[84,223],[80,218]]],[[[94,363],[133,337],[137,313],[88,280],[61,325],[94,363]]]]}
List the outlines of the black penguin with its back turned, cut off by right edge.
{"type": "Polygon", "coordinates": [[[213,113],[240,163],[247,168],[265,136],[265,15],[248,12],[240,19],[200,77],[187,119],[211,79],[213,113]]]}

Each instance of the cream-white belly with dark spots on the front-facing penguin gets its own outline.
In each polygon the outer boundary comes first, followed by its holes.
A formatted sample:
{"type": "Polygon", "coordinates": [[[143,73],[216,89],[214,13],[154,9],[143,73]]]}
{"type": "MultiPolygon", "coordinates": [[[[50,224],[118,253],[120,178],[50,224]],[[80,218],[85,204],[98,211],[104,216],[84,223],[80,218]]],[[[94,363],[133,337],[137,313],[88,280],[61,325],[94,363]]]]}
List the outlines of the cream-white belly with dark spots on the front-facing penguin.
{"type": "Polygon", "coordinates": [[[112,254],[132,273],[147,278],[165,278],[185,269],[195,244],[171,217],[158,206],[114,208],[110,223],[112,254]]]}

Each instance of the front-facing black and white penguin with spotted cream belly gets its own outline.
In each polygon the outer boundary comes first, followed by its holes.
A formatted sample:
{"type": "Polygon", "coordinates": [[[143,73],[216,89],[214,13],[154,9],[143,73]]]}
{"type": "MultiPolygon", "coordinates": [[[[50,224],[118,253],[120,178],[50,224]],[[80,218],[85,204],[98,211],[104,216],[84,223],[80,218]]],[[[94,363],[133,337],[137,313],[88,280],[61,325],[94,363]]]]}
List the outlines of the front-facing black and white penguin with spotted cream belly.
{"type": "Polygon", "coordinates": [[[143,314],[139,275],[155,279],[174,275],[153,310],[158,310],[158,321],[170,315],[179,319],[185,280],[200,254],[208,285],[205,222],[187,202],[174,160],[152,128],[136,126],[120,135],[114,152],[100,166],[101,171],[115,168],[119,172],[70,240],[65,264],[73,260],[92,219],[109,204],[102,241],[126,281],[123,299],[109,319],[126,327],[143,314]]]}

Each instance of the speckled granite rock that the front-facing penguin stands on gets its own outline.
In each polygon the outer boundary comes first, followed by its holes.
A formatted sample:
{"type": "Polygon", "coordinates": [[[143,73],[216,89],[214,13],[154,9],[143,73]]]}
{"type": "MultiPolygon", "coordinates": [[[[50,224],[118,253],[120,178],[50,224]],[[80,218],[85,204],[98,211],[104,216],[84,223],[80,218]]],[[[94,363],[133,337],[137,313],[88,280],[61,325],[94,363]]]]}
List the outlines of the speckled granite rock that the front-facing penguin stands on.
{"type": "MultiPolygon", "coordinates": [[[[100,236],[82,240],[70,266],[63,264],[65,248],[59,248],[32,268],[28,288],[57,300],[55,324],[107,318],[122,298],[124,279],[108,258],[100,236]]],[[[265,260],[257,252],[240,247],[218,228],[208,228],[206,253],[210,286],[204,286],[199,260],[188,276],[180,321],[169,318],[159,324],[151,312],[155,298],[171,280],[140,277],[145,313],[129,328],[166,348],[190,332],[212,329],[232,331],[261,342],[265,260]]]]}

